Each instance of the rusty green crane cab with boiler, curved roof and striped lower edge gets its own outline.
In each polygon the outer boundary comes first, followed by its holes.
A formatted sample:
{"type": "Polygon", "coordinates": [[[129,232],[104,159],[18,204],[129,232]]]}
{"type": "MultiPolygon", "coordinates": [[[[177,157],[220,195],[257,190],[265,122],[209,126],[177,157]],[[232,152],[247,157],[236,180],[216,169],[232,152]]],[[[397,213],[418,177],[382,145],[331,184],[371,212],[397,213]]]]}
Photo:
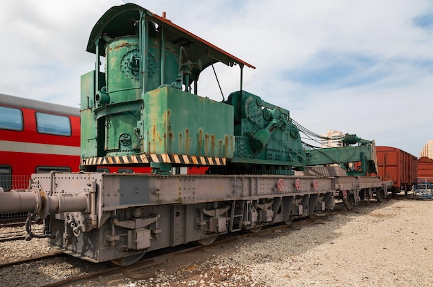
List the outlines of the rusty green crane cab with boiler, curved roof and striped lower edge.
{"type": "Polygon", "coordinates": [[[97,60],[82,76],[84,170],[151,165],[167,172],[233,157],[232,106],[196,95],[196,82],[215,62],[249,64],[133,4],[107,11],[87,50],[97,60]]]}

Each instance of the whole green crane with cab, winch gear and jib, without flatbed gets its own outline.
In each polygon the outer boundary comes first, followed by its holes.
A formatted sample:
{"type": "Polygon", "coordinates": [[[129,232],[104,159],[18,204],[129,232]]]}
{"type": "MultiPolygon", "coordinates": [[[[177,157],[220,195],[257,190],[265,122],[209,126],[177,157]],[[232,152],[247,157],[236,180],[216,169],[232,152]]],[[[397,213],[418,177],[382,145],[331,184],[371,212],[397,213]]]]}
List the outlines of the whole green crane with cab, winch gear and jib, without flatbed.
{"type": "Polygon", "coordinates": [[[167,174],[187,165],[210,173],[291,175],[307,165],[345,163],[347,150],[353,161],[373,158],[366,142],[306,151],[288,110],[243,91],[243,67],[253,66],[135,4],[108,10],[87,50],[96,64],[82,76],[86,171],[134,165],[167,174]],[[223,102],[198,93],[201,71],[216,62],[241,71],[240,90],[223,102]]]}

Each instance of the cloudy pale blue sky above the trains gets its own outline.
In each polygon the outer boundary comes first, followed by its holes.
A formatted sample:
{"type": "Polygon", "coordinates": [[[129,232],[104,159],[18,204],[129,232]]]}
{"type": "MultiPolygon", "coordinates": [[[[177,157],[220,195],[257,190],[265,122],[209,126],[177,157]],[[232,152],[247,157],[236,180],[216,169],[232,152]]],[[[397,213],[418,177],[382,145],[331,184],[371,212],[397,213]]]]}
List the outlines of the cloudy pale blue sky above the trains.
{"type": "MultiPolygon", "coordinates": [[[[433,139],[431,0],[1,1],[0,93],[79,107],[91,30],[128,2],[255,66],[243,89],[315,133],[356,133],[414,156],[433,139]]],[[[220,101],[208,70],[200,95],[220,101]]],[[[239,68],[216,73],[225,98],[239,90],[239,68]]]]}

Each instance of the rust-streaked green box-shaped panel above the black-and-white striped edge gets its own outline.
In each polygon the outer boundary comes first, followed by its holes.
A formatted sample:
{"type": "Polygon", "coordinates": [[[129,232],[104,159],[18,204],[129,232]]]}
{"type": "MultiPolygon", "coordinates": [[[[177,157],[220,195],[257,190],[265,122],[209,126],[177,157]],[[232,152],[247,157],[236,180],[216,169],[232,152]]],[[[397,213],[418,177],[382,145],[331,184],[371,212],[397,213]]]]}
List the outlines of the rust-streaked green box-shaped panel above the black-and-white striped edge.
{"type": "Polygon", "coordinates": [[[143,100],[145,153],[232,158],[232,106],[168,86],[143,100]]]}

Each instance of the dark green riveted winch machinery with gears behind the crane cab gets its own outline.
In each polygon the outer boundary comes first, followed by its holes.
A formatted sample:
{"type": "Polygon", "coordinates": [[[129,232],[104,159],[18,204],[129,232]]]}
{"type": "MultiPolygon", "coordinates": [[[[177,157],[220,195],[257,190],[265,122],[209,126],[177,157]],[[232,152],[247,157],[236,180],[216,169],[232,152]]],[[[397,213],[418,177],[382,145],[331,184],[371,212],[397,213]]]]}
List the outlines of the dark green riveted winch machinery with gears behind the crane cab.
{"type": "Polygon", "coordinates": [[[292,167],[304,167],[300,133],[288,110],[246,91],[230,94],[228,102],[235,111],[232,163],[270,165],[281,171],[278,174],[290,174],[292,167]]]}

